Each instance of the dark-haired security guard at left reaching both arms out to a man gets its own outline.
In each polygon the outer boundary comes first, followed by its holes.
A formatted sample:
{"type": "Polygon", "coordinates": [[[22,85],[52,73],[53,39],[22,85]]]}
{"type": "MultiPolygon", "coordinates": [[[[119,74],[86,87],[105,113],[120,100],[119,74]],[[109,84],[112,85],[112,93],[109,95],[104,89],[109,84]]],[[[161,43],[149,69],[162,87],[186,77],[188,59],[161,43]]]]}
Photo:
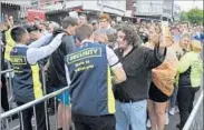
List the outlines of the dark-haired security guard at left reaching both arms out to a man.
{"type": "MultiPolygon", "coordinates": [[[[61,43],[64,33],[58,34],[50,44],[43,46],[49,42],[49,38],[40,38],[30,46],[27,46],[29,33],[21,27],[11,30],[11,37],[17,46],[10,53],[11,63],[14,70],[13,77],[13,94],[18,106],[22,106],[35,99],[42,98],[42,83],[40,78],[40,68],[38,61],[51,54],[61,43]],[[38,48],[41,47],[41,48],[38,48]]],[[[37,130],[46,129],[46,117],[43,103],[36,104],[36,120],[37,130]]],[[[21,129],[31,130],[32,108],[22,111],[21,129]]]]}

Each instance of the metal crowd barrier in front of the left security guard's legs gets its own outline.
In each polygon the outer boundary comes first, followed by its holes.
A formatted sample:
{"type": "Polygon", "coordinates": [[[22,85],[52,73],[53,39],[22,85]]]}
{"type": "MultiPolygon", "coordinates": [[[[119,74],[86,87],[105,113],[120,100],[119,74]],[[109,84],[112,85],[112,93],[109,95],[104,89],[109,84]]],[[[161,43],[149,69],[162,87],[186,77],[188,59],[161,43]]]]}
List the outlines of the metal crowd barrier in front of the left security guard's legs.
{"type": "MultiPolygon", "coordinates": [[[[9,66],[10,68],[10,66],[9,66]]],[[[68,90],[68,87],[64,88],[64,89],[60,89],[58,91],[55,91],[52,93],[49,93],[47,94],[46,92],[46,77],[45,77],[45,71],[42,69],[42,83],[43,83],[43,93],[45,96],[41,98],[41,99],[38,99],[38,100],[33,100],[33,101],[30,101],[23,106],[20,106],[20,107],[17,107],[17,108],[11,108],[11,103],[14,102],[14,97],[13,97],[13,93],[12,93],[12,69],[8,69],[8,70],[4,70],[4,71],[1,71],[1,74],[7,74],[9,73],[9,77],[7,78],[7,91],[8,91],[8,96],[9,96],[9,108],[10,110],[7,111],[7,112],[3,112],[0,114],[0,122],[1,122],[1,129],[2,130],[18,130],[20,128],[20,123],[22,122],[22,111],[28,109],[28,108],[32,108],[33,109],[33,118],[32,118],[32,127],[35,127],[35,130],[37,130],[37,120],[36,120],[36,108],[35,106],[38,104],[38,103],[41,103],[41,102],[45,102],[45,116],[46,116],[46,128],[47,130],[58,130],[58,103],[57,103],[57,96],[65,92],[66,90],[68,90]],[[48,107],[47,107],[47,102],[49,99],[52,99],[54,98],[54,108],[55,108],[55,116],[52,117],[49,117],[48,116],[48,107]],[[19,120],[16,119],[16,120],[12,120],[12,116],[14,114],[19,114],[19,120]],[[55,118],[55,119],[54,119],[55,118]],[[51,120],[50,120],[51,119],[51,120]],[[50,123],[51,121],[51,123],[50,123]],[[20,123],[19,123],[20,122],[20,123]],[[51,128],[51,129],[50,129],[51,128]]],[[[62,112],[65,108],[62,108],[62,112]]],[[[23,130],[23,123],[21,123],[22,126],[22,130],[23,130]]],[[[75,127],[74,124],[71,124],[72,127],[72,130],[75,130],[75,127]]]]}

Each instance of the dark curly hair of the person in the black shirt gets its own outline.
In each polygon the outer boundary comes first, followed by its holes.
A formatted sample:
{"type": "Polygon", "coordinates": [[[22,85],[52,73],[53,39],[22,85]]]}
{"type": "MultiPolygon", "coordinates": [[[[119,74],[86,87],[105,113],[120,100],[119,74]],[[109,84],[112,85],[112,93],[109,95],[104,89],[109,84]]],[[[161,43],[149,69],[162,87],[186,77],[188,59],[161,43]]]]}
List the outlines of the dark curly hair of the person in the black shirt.
{"type": "Polygon", "coordinates": [[[134,47],[138,47],[140,44],[139,42],[139,36],[135,29],[134,26],[123,23],[117,31],[123,31],[125,33],[125,39],[128,44],[133,44],[134,47]]]}

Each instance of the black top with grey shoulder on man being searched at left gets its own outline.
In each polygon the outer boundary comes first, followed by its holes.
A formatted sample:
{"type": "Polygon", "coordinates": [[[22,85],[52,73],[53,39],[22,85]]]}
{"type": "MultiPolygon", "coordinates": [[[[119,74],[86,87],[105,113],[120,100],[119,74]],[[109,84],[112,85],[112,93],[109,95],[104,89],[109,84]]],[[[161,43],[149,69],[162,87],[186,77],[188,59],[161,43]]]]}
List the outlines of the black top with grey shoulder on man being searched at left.
{"type": "Polygon", "coordinates": [[[52,88],[67,87],[65,56],[75,49],[75,40],[70,34],[62,37],[59,48],[49,57],[49,86],[52,88]]]}

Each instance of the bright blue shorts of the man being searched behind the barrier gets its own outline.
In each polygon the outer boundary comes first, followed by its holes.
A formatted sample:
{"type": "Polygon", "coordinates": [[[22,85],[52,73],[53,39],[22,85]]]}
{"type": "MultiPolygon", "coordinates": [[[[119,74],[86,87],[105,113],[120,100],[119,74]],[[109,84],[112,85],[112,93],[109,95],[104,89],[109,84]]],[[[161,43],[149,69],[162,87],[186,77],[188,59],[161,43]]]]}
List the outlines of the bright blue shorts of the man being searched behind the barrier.
{"type": "MultiPolygon", "coordinates": [[[[54,91],[58,91],[60,89],[62,89],[62,88],[55,88],[54,91]]],[[[62,93],[58,94],[56,98],[62,104],[66,104],[66,106],[69,106],[70,104],[69,90],[64,91],[62,93]]]]}

